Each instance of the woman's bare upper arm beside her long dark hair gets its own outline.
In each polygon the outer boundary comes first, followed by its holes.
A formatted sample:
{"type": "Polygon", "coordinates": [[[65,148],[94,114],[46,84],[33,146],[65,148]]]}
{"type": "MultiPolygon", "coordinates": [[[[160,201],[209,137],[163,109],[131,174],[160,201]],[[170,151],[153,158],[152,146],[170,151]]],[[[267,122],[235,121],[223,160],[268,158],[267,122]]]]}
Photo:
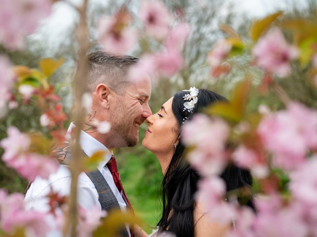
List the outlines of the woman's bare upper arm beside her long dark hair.
{"type": "Polygon", "coordinates": [[[225,236],[230,226],[212,221],[208,212],[208,204],[198,197],[194,208],[194,228],[195,237],[222,237],[225,236]]]}

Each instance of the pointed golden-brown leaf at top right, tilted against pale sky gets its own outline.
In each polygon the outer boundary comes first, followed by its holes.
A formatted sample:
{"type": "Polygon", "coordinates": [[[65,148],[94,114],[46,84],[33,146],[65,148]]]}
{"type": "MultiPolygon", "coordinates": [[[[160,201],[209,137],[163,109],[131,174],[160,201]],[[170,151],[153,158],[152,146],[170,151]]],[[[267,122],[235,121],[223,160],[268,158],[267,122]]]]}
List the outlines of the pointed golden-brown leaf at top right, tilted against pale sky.
{"type": "Polygon", "coordinates": [[[268,15],[265,18],[255,21],[250,29],[250,35],[252,40],[257,41],[271,26],[275,19],[280,16],[283,11],[278,11],[274,14],[268,15]]]}

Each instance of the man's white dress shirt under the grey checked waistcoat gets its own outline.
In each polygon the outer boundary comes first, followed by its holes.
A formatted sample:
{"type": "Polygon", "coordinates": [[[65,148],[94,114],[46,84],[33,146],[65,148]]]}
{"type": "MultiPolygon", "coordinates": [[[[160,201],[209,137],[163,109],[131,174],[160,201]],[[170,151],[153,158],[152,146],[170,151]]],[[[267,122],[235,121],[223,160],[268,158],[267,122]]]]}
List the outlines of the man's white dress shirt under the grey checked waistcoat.
{"type": "MultiPolygon", "coordinates": [[[[69,137],[69,133],[71,129],[75,127],[74,123],[69,125],[67,130],[66,138],[69,137]]],[[[106,163],[111,158],[111,152],[104,146],[102,143],[97,141],[95,138],[90,136],[88,133],[81,131],[80,133],[80,146],[81,149],[88,155],[92,156],[97,151],[106,151],[105,158],[100,164],[98,165],[99,171],[105,177],[106,182],[108,183],[111,191],[113,192],[114,196],[117,198],[120,209],[122,211],[126,210],[126,202],[124,201],[124,196],[122,191],[119,192],[117,187],[114,184],[112,175],[107,168],[106,163]]],[[[31,184],[30,189],[27,191],[25,195],[25,202],[27,209],[35,209],[38,211],[47,212],[49,211],[50,207],[48,205],[49,198],[47,196],[51,188],[54,192],[58,193],[62,196],[69,196],[70,194],[70,184],[71,184],[71,174],[66,165],[59,165],[59,168],[55,174],[51,174],[48,179],[42,179],[37,177],[34,182],[31,184]]],[[[98,210],[101,209],[100,202],[98,200],[98,192],[95,188],[95,185],[91,181],[91,179],[87,176],[85,172],[82,172],[78,177],[78,194],[77,194],[77,201],[78,204],[81,205],[83,208],[87,210],[91,210],[96,208],[98,210]]],[[[51,217],[52,218],[52,217],[51,217]]],[[[53,223],[49,223],[54,227],[53,223]]],[[[129,228],[127,230],[130,235],[129,228]]],[[[59,237],[62,236],[61,233],[54,230],[49,235],[50,237],[59,237]]]]}

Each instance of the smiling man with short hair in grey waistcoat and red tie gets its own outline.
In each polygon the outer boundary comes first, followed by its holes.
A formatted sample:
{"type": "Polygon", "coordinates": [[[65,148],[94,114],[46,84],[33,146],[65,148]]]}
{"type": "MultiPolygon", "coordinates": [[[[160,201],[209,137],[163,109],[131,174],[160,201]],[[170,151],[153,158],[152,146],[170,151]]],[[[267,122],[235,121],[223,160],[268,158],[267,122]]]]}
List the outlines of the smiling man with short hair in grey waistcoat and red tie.
{"type": "MultiPolygon", "coordinates": [[[[98,170],[79,175],[78,204],[87,210],[97,207],[100,211],[109,211],[117,207],[125,211],[130,205],[118,173],[114,175],[113,166],[116,167],[116,164],[110,151],[113,148],[135,146],[139,126],[152,114],[148,103],[151,96],[150,78],[138,81],[128,79],[129,69],[138,61],[132,56],[110,55],[104,51],[96,51],[88,56],[87,88],[93,102],[92,113],[80,134],[80,146],[88,157],[97,151],[105,151],[106,155],[98,170]],[[101,134],[91,129],[90,124],[94,121],[108,121],[111,124],[110,131],[101,134]]],[[[67,136],[74,126],[70,124],[67,136]]],[[[62,164],[67,164],[65,161],[71,158],[67,144],[56,149],[56,154],[62,164]]],[[[70,183],[71,176],[66,165],[60,165],[57,173],[48,180],[37,177],[26,193],[27,207],[48,211],[48,198],[45,196],[51,189],[59,195],[68,196],[70,183]]],[[[129,228],[120,233],[120,236],[131,236],[129,228]]],[[[51,236],[60,236],[60,233],[55,231],[51,236]]]]}

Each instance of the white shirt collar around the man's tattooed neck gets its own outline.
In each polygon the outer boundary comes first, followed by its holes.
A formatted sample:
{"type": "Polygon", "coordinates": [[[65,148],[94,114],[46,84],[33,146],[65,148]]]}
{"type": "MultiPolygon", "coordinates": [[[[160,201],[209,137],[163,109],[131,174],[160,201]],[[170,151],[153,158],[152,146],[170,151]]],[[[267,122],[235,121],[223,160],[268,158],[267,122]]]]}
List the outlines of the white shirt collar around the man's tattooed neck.
{"type": "MultiPolygon", "coordinates": [[[[70,132],[76,125],[71,122],[66,133],[66,139],[70,139],[70,132]]],[[[110,160],[112,152],[110,152],[104,144],[93,138],[83,130],[80,131],[80,147],[86,153],[87,156],[91,157],[95,152],[105,151],[104,160],[98,165],[98,168],[103,168],[106,163],[110,160]]]]}

